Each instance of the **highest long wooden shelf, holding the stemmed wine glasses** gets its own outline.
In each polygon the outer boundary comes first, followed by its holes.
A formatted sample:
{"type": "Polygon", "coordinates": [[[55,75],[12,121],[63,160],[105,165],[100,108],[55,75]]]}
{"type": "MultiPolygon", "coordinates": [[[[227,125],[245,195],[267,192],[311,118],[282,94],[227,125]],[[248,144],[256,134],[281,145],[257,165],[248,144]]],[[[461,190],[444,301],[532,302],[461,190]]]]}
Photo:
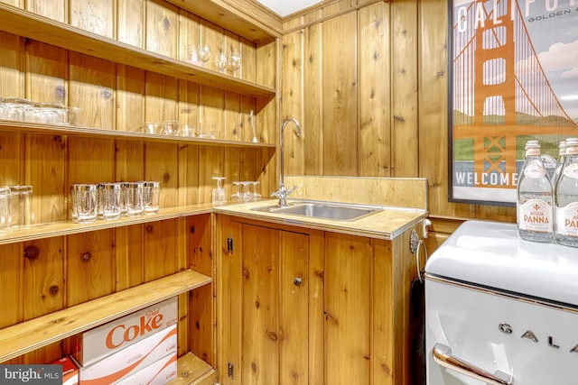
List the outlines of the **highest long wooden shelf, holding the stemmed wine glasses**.
{"type": "Polygon", "coordinates": [[[149,50],[109,39],[69,24],[24,11],[13,5],[0,3],[0,30],[42,41],[67,50],[111,60],[127,66],[145,69],[172,78],[224,89],[253,97],[275,97],[275,89],[260,86],[240,78],[233,78],[181,60],[169,58],[149,50]]]}

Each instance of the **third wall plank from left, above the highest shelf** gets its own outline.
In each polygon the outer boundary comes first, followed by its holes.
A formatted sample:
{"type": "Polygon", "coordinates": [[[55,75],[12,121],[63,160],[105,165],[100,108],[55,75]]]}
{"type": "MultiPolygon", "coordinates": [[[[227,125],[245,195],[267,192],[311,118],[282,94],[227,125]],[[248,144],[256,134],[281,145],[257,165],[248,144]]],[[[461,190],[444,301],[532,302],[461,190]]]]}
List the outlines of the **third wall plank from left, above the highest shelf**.
{"type": "Polygon", "coordinates": [[[114,39],[115,0],[69,0],[70,25],[114,39]]]}

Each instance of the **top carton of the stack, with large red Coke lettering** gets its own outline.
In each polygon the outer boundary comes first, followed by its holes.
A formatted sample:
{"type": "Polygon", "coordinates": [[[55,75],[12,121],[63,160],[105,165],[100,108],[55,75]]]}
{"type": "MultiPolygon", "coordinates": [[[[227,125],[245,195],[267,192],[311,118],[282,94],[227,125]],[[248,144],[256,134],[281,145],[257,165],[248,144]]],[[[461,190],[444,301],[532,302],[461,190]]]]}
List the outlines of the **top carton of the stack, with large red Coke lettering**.
{"type": "Polygon", "coordinates": [[[178,298],[166,299],[76,335],[72,338],[72,357],[81,366],[89,366],[148,335],[176,325],[178,320],[178,298]]]}

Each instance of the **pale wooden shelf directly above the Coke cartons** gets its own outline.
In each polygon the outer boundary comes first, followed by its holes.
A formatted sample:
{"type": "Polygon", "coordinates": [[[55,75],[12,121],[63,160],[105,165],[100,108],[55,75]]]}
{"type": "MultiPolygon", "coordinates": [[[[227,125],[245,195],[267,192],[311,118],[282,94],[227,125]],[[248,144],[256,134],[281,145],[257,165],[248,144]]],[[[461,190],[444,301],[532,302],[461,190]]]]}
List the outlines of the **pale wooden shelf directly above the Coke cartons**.
{"type": "Polygon", "coordinates": [[[210,277],[185,270],[0,330],[0,362],[77,335],[144,307],[207,285],[210,277]]]}

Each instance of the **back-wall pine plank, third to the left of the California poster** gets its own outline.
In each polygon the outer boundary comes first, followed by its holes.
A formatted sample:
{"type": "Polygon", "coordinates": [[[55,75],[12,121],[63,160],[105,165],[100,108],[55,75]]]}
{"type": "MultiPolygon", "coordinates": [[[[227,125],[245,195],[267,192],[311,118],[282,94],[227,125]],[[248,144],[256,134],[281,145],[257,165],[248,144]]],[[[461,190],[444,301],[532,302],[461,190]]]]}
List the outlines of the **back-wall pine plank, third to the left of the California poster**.
{"type": "Polygon", "coordinates": [[[359,175],[391,176],[391,104],[389,5],[375,3],[358,11],[359,175]]]}

